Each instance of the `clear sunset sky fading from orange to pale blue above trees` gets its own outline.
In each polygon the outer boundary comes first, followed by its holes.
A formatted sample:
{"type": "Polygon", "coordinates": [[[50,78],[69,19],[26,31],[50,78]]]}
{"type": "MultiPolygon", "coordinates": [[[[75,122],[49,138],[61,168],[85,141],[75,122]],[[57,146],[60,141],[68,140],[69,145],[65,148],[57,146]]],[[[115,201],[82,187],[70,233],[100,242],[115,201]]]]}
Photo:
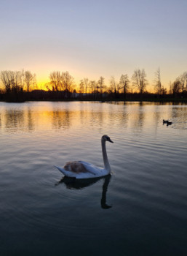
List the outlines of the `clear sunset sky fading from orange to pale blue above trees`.
{"type": "Polygon", "coordinates": [[[1,0],[0,70],[52,71],[108,80],[137,68],[150,85],[187,71],[186,0],[1,0]]]}

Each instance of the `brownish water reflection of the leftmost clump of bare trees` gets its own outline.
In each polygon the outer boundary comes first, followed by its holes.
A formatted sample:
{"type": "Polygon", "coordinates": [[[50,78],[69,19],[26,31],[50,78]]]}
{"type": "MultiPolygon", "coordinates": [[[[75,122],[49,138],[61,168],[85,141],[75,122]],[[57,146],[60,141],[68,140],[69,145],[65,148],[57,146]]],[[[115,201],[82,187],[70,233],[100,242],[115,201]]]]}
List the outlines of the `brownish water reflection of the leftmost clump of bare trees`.
{"type": "Polygon", "coordinates": [[[9,131],[9,129],[13,131],[23,130],[25,127],[23,110],[6,110],[4,118],[7,131],[9,131]]]}

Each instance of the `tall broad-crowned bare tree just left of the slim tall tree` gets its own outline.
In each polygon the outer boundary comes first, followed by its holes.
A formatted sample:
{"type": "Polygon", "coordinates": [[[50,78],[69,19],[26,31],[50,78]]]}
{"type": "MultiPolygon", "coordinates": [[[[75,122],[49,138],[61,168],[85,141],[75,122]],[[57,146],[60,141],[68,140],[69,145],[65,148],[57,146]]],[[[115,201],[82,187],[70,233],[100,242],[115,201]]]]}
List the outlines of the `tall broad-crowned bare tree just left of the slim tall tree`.
{"type": "Polygon", "coordinates": [[[132,85],[138,89],[140,94],[143,94],[143,92],[146,90],[146,72],[144,69],[135,69],[133,75],[132,75],[132,85]]]}

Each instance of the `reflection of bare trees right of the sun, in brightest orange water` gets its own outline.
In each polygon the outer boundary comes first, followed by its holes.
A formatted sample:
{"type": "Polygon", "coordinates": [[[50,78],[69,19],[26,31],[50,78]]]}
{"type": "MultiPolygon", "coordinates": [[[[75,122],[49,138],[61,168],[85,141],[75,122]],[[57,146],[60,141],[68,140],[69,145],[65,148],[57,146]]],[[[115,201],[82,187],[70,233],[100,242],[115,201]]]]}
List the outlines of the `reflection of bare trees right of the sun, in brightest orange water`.
{"type": "Polygon", "coordinates": [[[68,129],[71,126],[71,113],[69,110],[53,110],[52,125],[56,129],[68,129]]]}

